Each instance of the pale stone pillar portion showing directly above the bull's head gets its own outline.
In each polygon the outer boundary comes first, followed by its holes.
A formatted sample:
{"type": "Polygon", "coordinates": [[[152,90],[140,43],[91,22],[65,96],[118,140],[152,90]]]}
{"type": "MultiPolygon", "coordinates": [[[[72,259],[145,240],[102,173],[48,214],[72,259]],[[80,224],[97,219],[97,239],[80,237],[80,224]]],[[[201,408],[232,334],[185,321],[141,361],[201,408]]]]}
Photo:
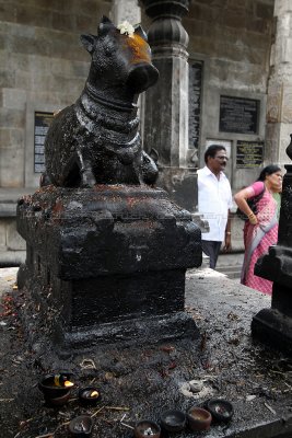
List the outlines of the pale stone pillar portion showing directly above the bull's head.
{"type": "Polygon", "coordinates": [[[137,0],[113,0],[110,20],[117,25],[127,20],[132,25],[141,22],[141,9],[137,0]]]}

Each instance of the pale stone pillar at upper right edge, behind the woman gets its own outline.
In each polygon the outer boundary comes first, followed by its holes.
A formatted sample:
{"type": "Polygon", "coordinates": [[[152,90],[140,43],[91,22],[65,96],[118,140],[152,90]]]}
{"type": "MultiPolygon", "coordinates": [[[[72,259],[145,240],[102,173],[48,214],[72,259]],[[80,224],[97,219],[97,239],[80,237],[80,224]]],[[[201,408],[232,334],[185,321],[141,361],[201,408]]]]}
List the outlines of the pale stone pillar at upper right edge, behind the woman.
{"type": "Polygon", "coordinates": [[[292,132],[292,2],[275,1],[276,37],[271,47],[267,100],[266,163],[285,163],[292,132]]]}

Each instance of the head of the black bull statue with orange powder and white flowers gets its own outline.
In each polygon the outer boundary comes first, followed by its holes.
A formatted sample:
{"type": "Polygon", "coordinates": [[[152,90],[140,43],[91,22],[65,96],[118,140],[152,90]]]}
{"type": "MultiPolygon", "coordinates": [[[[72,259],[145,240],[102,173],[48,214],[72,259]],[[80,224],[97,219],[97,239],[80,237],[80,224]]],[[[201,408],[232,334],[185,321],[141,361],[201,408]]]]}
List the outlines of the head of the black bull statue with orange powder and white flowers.
{"type": "Polygon", "coordinates": [[[159,79],[159,71],[151,64],[147,34],[140,25],[128,24],[127,28],[124,23],[116,27],[103,16],[97,35],[81,35],[81,42],[92,57],[87,83],[100,92],[110,90],[119,99],[133,99],[159,79]]]}

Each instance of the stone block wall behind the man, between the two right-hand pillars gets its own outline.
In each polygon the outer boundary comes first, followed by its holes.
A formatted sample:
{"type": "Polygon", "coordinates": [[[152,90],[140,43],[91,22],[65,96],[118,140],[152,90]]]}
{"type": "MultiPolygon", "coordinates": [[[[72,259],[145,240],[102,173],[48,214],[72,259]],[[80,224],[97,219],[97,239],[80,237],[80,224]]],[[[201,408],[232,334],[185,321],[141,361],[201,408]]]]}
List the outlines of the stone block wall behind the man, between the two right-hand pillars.
{"type": "Polygon", "coordinates": [[[211,140],[222,141],[230,149],[227,174],[236,191],[253,182],[258,174],[258,169],[237,168],[237,140],[265,141],[266,136],[266,94],[275,31],[273,0],[194,0],[184,25],[189,34],[190,60],[202,61],[199,166],[203,165],[206,146],[211,140]],[[222,95],[258,102],[255,132],[220,129],[222,95]]]}

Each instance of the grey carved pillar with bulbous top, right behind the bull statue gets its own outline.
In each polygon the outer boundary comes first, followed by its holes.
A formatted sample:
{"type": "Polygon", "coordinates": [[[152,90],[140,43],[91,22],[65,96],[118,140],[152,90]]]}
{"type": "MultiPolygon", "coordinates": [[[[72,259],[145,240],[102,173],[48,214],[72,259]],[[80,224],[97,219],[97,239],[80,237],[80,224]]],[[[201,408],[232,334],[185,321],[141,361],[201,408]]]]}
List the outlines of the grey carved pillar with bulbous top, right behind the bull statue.
{"type": "Polygon", "coordinates": [[[188,153],[188,35],[182,18],[189,0],[142,0],[152,19],[148,32],[160,80],[145,93],[144,150],[156,157],[157,185],[180,206],[196,209],[196,169],[188,153]]]}

